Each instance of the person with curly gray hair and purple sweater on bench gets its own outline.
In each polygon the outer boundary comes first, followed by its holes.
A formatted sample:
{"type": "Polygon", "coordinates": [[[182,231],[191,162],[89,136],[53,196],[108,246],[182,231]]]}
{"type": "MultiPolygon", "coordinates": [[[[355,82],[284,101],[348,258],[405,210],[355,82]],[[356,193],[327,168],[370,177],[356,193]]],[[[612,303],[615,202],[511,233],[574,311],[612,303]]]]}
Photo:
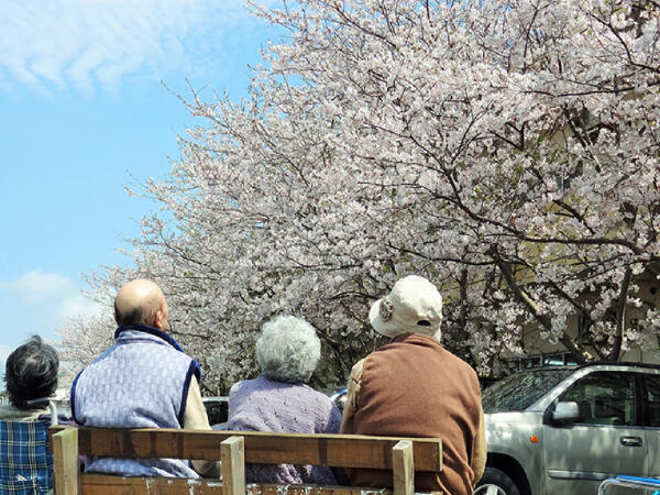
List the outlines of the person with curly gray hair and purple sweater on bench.
{"type": "MultiPolygon", "coordinates": [[[[256,342],[262,374],[239,382],[229,392],[230,430],[337,433],[341,414],[320,392],[305,385],[319,362],[321,343],[315,329],[293,316],[264,324],[256,342]]],[[[253,483],[337,484],[327,466],[248,464],[253,483]]]]}

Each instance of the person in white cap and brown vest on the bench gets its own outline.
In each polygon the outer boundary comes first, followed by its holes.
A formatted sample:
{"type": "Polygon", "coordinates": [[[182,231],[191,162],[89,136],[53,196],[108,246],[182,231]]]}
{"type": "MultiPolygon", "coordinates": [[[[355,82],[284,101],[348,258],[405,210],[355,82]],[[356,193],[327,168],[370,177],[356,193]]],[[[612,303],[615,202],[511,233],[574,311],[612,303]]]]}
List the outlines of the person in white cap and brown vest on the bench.
{"type": "MultiPolygon", "coordinates": [[[[415,487],[469,495],[483,474],[486,437],[474,370],[440,343],[442,296],[424,277],[398,280],[369,318],[392,341],[351,371],[342,433],[442,439],[442,472],[415,487]]],[[[392,473],[350,470],[354,486],[392,486],[392,473]]]]}

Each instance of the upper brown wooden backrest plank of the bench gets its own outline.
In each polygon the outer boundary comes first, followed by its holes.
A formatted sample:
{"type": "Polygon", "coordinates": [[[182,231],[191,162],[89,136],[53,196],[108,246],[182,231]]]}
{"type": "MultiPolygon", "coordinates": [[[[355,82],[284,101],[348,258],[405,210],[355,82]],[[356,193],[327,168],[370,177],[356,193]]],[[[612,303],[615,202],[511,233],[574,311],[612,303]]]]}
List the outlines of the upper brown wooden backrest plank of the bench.
{"type": "MultiPolygon", "coordinates": [[[[52,428],[57,431],[57,427],[52,428]]],[[[265,433],[176,429],[79,428],[80,453],[121,458],[217,460],[218,443],[232,436],[245,439],[245,462],[315,464],[338,468],[392,469],[393,437],[265,433]]],[[[417,471],[442,470],[440,439],[415,438],[417,471]]]]}

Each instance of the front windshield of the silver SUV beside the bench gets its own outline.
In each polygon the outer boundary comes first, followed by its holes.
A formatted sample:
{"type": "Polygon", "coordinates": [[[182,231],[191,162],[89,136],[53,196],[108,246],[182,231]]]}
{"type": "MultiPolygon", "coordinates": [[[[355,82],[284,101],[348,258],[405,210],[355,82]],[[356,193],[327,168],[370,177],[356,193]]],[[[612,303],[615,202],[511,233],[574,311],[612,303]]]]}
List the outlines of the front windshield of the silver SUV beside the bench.
{"type": "Polygon", "coordinates": [[[566,369],[534,370],[507,376],[484,391],[484,413],[525,410],[571,373],[566,369]]]}

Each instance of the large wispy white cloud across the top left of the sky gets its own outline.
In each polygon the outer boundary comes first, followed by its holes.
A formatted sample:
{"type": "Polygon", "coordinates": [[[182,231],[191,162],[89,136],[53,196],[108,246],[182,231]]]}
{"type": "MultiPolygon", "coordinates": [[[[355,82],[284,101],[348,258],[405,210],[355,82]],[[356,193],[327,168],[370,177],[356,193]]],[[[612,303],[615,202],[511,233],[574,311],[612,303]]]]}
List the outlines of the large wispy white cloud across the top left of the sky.
{"type": "Polygon", "coordinates": [[[35,89],[88,91],[95,82],[112,89],[143,70],[162,78],[172,69],[213,62],[224,41],[245,33],[237,26],[254,22],[243,0],[4,2],[0,88],[9,81],[35,89]]]}

